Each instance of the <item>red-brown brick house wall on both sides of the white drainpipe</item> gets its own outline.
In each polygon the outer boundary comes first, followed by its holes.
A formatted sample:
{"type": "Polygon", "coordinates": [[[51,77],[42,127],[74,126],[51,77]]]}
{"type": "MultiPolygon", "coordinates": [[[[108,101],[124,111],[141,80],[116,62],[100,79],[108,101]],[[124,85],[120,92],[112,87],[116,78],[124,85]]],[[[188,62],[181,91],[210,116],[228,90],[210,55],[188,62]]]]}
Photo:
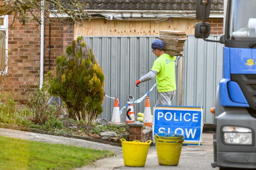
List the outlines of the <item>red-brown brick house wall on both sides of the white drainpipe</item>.
{"type": "MultiPolygon", "coordinates": [[[[40,13],[34,10],[34,14],[40,13]]],[[[10,27],[13,16],[9,16],[8,29],[8,81],[5,91],[14,93],[14,100],[18,103],[26,103],[29,98],[29,88],[38,88],[40,84],[40,25],[36,27],[35,21],[28,21],[23,26],[18,21],[10,27]]],[[[46,21],[44,26],[44,74],[50,70],[54,74],[56,58],[71,44],[74,34],[74,26],[68,20],[62,23],[58,19],[46,21]],[[50,30],[50,48],[49,48],[50,30]],[[64,43],[63,43],[64,42],[64,43]]]]}

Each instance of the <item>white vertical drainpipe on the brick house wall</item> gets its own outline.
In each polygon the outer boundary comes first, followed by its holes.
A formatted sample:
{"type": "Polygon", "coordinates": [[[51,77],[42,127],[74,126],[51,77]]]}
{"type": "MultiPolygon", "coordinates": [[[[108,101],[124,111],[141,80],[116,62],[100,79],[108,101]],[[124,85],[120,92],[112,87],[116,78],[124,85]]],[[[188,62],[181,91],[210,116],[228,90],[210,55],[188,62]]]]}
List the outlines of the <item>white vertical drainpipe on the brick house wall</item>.
{"type": "Polygon", "coordinates": [[[41,0],[40,89],[44,82],[44,0],[41,0]]]}

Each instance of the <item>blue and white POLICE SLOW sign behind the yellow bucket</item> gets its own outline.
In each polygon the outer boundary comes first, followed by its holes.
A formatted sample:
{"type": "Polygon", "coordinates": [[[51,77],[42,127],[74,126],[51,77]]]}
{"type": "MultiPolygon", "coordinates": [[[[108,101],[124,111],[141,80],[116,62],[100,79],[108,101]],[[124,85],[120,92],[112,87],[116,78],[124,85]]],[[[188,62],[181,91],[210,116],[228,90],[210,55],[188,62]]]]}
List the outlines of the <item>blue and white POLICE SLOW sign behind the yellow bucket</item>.
{"type": "Polygon", "coordinates": [[[166,131],[184,135],[184,144],[202,143],[203,107],[157,105],[154,110],[154,134],[166,131]]]}

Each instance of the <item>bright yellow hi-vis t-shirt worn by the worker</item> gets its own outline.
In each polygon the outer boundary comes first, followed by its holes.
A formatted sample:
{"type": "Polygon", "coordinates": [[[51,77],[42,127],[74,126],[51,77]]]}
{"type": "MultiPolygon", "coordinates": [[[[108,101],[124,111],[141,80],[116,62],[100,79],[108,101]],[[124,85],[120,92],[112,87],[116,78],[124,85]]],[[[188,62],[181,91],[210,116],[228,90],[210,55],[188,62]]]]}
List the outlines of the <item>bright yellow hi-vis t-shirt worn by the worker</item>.
{"type": "Polygon", "coordinates": [[[175,60],[176,57],[164,53],[155,61],[151,70],[155,70],[158,92],[170,92],[176,90],[175,81],[175,60]]]}

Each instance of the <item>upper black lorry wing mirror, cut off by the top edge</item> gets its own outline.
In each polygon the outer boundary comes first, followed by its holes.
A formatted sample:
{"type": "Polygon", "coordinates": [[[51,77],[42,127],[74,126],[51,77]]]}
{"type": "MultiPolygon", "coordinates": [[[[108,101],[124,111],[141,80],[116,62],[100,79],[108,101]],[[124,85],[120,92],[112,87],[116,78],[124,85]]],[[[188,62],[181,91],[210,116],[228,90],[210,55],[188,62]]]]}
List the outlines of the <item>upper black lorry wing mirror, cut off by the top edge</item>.
{"type": "Polygon", "coordinates": [[[196,19],[206,20],[210,16],[210,0],[196,0],[196,19]]]}

